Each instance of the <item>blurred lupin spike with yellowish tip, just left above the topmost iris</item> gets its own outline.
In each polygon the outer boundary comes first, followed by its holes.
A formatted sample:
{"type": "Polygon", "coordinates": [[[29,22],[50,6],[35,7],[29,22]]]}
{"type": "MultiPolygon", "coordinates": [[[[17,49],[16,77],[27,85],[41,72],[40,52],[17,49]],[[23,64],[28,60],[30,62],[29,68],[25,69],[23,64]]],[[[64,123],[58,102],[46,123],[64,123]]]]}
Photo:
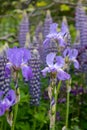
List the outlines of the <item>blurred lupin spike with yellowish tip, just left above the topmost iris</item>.
{"type": "Polygon", "coordinates": [[[45,18],[45,22],[44,22],[44,30],[43,30],[43,35],[44,35],[44,39],[46,38],[46,36],[49,34],[50,31],[50,25],[53,23],[50,11],[48,10],[46,13],[46,18],[45,18]]]}

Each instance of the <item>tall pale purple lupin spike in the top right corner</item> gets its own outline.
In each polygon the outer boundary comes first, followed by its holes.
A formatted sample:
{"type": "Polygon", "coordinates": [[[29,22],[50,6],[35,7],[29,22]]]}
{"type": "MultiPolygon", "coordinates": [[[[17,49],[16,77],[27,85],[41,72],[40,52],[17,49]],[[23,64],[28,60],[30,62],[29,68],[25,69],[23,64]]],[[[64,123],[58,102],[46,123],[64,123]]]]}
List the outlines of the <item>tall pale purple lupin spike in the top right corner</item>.
{"type": "Polygon", "coordinates": [[[76,7],[76,28],[80,31],[81,44],[87,44],[87,16],[82,3],[78,2],[76,7]]]}

